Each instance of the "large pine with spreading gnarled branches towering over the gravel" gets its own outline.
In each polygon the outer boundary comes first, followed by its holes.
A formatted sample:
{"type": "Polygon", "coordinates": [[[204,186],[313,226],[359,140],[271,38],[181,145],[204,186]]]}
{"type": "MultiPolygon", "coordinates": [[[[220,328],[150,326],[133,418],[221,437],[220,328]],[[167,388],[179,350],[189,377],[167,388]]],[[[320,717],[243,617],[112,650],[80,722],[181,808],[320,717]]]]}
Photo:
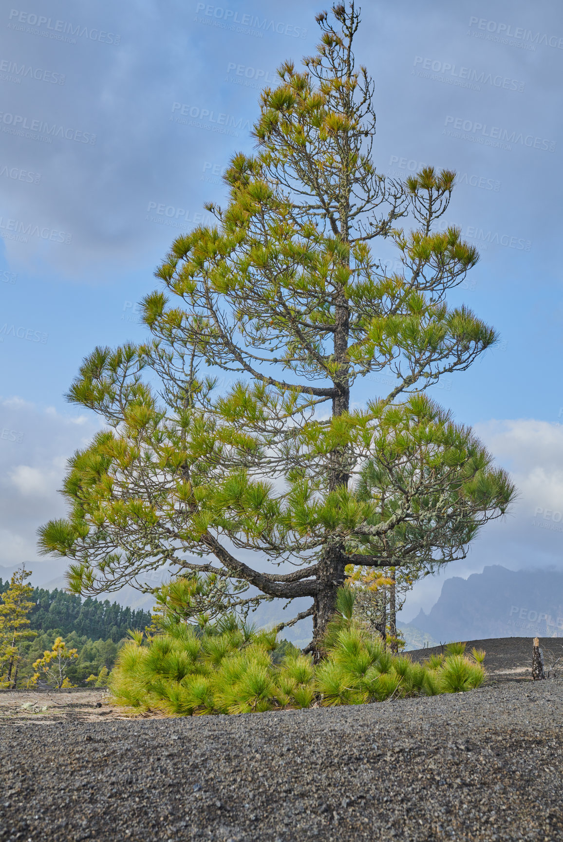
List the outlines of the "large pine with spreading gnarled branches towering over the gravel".
{"type": "Polygon", "coordinates": [[[514,489],[424,392],[497,339],[446,302],[478,259],[458,228],[438,230],[454,173],[378,173],[359,13],[338,5],[317,22],[305,70],[287,61],[263,91],[257,152],[232,158],[226,206],[207,205],[215,226],[178,237],[157,270],[164,289],[142,305],[151,341],[84,360],[69,400],[108,429],[72,457],[70,514],[40,530],[40,548],[70,558],[76,593],[142,587],[166,564],[226,580],[227,609],[308,597],[283,625],[312,616],[318,652],[349,563],[463,557],[514,489]],[[217,368],[240,376],[223,395],[217,368]],[[351,408],[357,381],[389,375],[388,394],[351,408]],[[369,460],[389,478],[383,506],[356,493],[369,460]]]}

